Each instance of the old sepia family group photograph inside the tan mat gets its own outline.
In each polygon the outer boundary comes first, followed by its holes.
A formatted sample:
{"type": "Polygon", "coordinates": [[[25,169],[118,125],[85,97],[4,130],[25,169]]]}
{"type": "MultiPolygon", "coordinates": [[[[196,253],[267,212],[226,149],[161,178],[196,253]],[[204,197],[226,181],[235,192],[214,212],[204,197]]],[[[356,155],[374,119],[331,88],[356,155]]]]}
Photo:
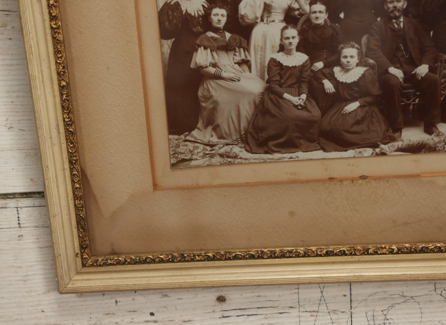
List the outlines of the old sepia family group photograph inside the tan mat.
{"type": "Polygon", "coordinates": [[[157,0],[172,168],[446,152],[446,0],[157,0]]]}

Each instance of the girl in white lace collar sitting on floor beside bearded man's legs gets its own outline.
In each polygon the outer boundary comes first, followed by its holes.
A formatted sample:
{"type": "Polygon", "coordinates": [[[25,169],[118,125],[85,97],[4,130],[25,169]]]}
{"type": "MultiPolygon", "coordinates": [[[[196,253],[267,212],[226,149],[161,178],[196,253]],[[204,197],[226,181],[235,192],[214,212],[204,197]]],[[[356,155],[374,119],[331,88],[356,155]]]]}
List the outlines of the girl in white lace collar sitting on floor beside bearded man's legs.
{"type": "Polygon", "coordinates": [[[340,66],[318,71],[314,78],[323,83],[335,104],[322,118],[319,144],[326,152],[376,148],[395,140],[378,108],[381,93],[375,73],[362,67],[361,50],[354,42],[339,46],[340,66]]]}

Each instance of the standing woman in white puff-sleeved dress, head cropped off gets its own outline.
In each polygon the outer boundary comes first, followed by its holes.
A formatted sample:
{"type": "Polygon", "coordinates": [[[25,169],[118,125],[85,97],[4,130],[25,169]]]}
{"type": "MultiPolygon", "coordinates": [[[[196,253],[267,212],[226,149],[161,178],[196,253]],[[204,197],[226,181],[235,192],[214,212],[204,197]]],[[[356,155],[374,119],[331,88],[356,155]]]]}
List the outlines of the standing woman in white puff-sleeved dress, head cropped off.
{"type": "Polygon", "coordinates": [[[242,25],[256,24],[249,40],[251,72],[260,79],[268,79],[268,61],[277,52],[284,17],[303,16],[309,12],[306,0],[242,0],[239,19],[242,25]]]}

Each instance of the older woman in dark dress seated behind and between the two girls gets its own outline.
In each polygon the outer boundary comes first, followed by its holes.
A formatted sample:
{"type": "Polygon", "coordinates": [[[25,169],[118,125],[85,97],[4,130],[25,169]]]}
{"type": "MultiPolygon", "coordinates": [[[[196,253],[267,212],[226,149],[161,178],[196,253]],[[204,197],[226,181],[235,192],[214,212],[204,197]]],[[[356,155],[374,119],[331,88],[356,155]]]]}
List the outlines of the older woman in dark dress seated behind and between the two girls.
{"type": "MultiPolygon", "coordinates": [[[[324,2],[311,2],[310,21],[306,22],[299,32],[297,51],[308,55],[313,72],[339,63],[338,47],[342,43],[341,30],[337,25],[330,24],[327,17],[328,12],[324,2]]],[[[329,105],[329,97],[326,96],[324,88],[313,78],[308,81],[308,88],[323,116],[325,108],[329,105]]]]}

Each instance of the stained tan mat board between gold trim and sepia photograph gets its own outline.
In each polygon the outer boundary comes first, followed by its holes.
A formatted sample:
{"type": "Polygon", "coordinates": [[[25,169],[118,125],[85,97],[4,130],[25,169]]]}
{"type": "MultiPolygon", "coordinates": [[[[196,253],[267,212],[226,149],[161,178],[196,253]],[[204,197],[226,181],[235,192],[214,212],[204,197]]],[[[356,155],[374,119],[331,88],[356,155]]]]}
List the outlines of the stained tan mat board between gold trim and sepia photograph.
{"type": "Polygon", "coordinates": [[[445,177],[289,183],[442,173],[444,154],[170,169],[157,8],[137,4],[140,44],[132,1],[60,2],[93,255],[445,240],[445,177]],[[276,184],[154,191],[253,182],[276,184]]]}

